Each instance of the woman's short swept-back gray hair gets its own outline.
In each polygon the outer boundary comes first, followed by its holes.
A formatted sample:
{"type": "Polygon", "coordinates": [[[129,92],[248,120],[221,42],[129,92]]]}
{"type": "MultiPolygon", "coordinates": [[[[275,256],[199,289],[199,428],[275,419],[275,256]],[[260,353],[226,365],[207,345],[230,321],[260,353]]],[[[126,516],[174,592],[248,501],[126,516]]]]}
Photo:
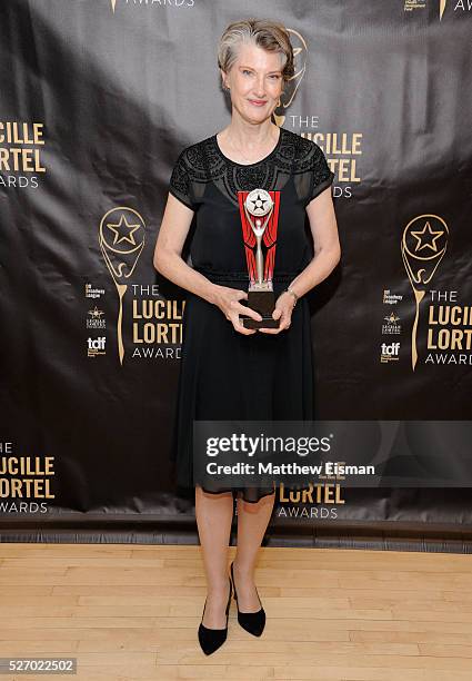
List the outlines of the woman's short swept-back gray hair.
{"type": "Polygon", "coordinates": [[[218,66],[228,73],[238,58],[238,47],[241,43],[255,45],[268,52],[284,55],[282,61],[282,79],[290,80],[294,72],[293,48],[285,27],[270,19],[247,19],[233,21],[224,30],[218,46],[218,66]]]}

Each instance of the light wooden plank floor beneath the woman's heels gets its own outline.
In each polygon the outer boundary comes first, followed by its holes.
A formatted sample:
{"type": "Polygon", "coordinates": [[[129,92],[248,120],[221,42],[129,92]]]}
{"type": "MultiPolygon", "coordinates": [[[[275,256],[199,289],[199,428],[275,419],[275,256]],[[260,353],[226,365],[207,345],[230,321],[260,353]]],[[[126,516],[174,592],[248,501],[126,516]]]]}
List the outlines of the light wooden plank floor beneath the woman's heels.
{"type": "Polygon", "coordinates": [[[198,546],[0,544],[0,657],[74,657],[88,681],[472,680],[469,555],[261,549],[257,584],[262,636],[232,601],[207,658],[198,546]]]}

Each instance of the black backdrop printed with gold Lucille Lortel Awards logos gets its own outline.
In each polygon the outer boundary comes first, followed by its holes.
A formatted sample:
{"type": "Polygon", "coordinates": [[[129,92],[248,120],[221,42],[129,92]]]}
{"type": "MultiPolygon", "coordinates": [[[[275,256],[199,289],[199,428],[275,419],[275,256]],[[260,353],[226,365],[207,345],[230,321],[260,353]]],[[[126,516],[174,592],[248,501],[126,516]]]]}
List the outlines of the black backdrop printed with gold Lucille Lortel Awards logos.
{"type": "Polygon", "coordinates": [[[185,292],[152,258],[180,151],[230,121],[218,40],[251,17],[295,51],[275,122],[335,174],[342,260],[309,296],[318,418],[369,424],[360,463],[375,443],[385,472],[279,490],[270,532],[472,523],[470,3],[3,0],[2,539],[194,526],[170,462],[185,292]]]}

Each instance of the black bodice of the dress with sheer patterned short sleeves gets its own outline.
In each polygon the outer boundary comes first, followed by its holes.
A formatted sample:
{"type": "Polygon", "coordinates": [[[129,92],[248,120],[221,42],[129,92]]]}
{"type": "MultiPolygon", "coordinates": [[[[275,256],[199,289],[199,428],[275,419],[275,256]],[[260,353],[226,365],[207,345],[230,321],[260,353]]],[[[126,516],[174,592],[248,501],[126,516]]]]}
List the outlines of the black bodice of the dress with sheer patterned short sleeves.
{"type": "Polygon", "coordinates": [[[275,272],[301,272],[312,257],[305,207],[334,179],[321,148],[280,128],[274,149],[255,164],[227,158],[213,135],[181,151],[169,191],[195,211],[190,247],[195,267],[245,270],[238,191],[281,193],[275,272]]]}

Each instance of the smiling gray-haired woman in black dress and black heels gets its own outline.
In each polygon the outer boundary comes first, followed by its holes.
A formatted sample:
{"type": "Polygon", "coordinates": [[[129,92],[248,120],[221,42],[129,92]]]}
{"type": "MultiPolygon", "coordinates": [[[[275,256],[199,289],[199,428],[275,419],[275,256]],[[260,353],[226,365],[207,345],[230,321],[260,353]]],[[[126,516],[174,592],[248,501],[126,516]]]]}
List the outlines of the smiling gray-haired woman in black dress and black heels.
{"type": "Polygon", "coordinates": [[[231,23],[218,56],[222,87],[231,98],[231,122],[180,154],[154,254],[155,268],[190,292],[173,456],[178,483],[195,487],[208,584],[199,640],[207,654],[227,638],[232,590],[240,624],[254,635],[262,633],[265,613],[254,565],[275,493],[273,487],[222,491],[194,485],[193,421],[314,417],[310,314],[303,296],[340,258],[330,191],[334,176],[324,155],[311,140],[271,120],[294,72],[287,30],[268,20],[231,23]],[[279,327],[259,330],[245,328],[240,319],[261,319],[244,305],[248,268],[238,203],[238,191],[254,188],[280,191],[272,315],[279,327]],[[190,267],[181,254],[194,214],[190,267]],[[238,493],[238,549],[229,580],[238,493]]]}

